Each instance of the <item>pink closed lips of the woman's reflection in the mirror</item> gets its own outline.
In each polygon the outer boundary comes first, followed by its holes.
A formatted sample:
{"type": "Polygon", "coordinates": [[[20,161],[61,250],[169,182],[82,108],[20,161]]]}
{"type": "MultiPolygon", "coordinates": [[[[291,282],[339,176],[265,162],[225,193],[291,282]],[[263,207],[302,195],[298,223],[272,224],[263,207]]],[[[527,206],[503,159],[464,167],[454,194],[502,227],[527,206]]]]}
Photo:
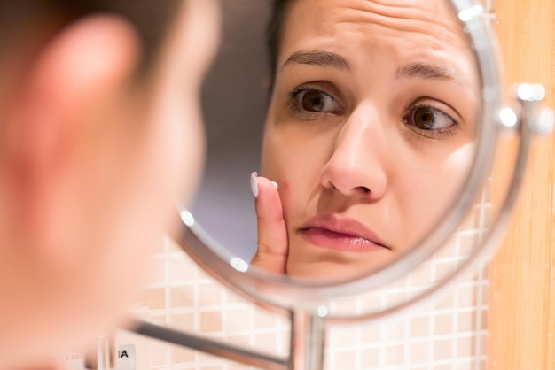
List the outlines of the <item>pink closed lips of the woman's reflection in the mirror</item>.
{"type": "Polygon", "coordinates": [[[309,243],[337,251],[391,250],[378,235],[362,223],[333,216],[316,216],[299,228],[301,236],[309,243]]]}

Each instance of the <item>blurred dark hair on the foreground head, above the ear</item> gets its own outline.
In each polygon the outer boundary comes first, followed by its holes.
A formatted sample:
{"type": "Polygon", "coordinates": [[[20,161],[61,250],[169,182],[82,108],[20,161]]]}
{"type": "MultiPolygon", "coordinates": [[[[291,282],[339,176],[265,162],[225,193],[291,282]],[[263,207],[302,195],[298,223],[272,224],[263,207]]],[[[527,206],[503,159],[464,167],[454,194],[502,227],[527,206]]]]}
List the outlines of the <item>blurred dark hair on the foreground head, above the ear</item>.
{"type": "MultiPolygon", "coordinates": [[[[56,27],[61,28],[91,14],[112,13],[129,20],[137,28],[144,51],[139,69],[144,71],[152,64],[152,57],[157,54],[163,35],[182,3],[183,0],[3,0],[0,3],[0,24],[3,25],[0,33],[17,38],[18,35],[10,34],[12,29],[21,32],[21,24],[29,19],[51,17],[56,27]]],[[[2,46],[5,45],[0,45],[1,52],[6,52],[2,46]]]]}

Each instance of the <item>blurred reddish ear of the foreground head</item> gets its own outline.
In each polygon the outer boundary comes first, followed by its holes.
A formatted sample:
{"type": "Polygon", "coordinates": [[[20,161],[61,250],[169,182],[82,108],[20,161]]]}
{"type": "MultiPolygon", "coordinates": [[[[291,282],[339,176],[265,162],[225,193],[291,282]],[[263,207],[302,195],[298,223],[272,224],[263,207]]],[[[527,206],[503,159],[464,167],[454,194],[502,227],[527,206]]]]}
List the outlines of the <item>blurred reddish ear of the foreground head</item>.
{"type": "Polygon", "coordinates": [[[19,227],[40,229],[48,217],[59,177],[79,166],[74,152],[82,126],[92,121],[88,116],[98,101],[121,89],[133,73],[138,45],[136,31],[124,19],[92,16],[56,35],[20,79],[2,140],[12,216],[19,227]]]}

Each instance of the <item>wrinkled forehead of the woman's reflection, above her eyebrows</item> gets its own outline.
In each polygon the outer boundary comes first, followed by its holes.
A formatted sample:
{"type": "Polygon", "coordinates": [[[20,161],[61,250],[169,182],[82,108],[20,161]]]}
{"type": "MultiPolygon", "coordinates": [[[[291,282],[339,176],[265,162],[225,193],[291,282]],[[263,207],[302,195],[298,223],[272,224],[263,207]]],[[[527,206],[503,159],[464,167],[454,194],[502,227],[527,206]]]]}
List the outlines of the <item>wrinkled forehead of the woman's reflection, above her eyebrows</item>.
{"type": "Polygon", "coordinates": [[[445,1],[296,0],[283,29],[278,69],[295,52],[332,50],[349,61],[435,60],[477,82],[470,43],[445,1]]]}

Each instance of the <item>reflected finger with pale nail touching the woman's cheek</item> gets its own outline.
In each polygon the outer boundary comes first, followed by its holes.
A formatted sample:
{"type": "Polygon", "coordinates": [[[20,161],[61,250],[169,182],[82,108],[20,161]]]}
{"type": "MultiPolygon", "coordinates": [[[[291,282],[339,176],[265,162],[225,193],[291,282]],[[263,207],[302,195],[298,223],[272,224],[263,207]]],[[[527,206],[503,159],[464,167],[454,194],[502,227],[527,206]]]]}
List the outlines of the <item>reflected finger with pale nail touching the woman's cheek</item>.
{"type": "Polygon", "coordinates": [[[251,189],[256,198],[258,220],[258,248],[251,266],[270,273],[285,274],[289,243],[277,183],[253,173],[251,189]]]}

